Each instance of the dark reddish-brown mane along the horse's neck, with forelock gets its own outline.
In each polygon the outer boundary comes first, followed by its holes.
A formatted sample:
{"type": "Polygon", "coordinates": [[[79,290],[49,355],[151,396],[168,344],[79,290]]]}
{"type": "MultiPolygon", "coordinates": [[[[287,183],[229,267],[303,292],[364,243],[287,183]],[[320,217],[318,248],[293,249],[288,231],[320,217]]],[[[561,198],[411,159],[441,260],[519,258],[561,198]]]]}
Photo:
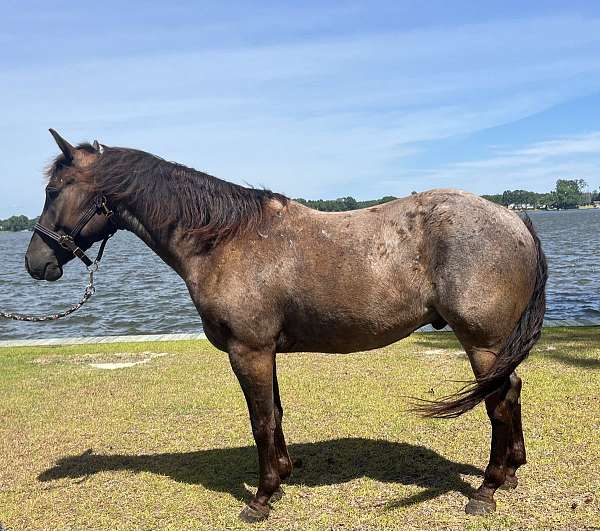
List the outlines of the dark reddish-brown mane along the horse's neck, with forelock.
{"type": "MultiPolygon", "coordinates": [[[[87,143],[77,148],[96,153],[87,143]]],[[[64,157],[58,157],[48,170],[50,178],[64,165],[64,157]]],[[[270,199],[288,202],[281,194],[239,186],[129,148],[104,147],[83,174],[109,203],[135,207],[152,226],[177,224],[211,244],[258,229],[270,199]]]]}

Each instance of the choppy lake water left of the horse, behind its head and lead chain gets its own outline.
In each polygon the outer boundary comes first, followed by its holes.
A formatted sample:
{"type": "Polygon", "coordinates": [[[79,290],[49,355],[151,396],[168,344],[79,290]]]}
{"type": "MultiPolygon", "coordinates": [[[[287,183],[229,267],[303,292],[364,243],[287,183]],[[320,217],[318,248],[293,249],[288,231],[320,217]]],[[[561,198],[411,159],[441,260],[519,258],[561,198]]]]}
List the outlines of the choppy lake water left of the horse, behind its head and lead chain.
{"type": "MultiPolygon", "coordinates": [[[[30,232],[0,232],[0,308],[43,314],[77,302],[87,283],[83,263],[67,264],[57,282],[36,281],[24,266],[30,239],[30,232]]],[[[45,323],[0,319],[0,340],[202,331],[183,280],[129,232],[111,238],[95,281],[96,294],[69,317],[45,323]]]]}

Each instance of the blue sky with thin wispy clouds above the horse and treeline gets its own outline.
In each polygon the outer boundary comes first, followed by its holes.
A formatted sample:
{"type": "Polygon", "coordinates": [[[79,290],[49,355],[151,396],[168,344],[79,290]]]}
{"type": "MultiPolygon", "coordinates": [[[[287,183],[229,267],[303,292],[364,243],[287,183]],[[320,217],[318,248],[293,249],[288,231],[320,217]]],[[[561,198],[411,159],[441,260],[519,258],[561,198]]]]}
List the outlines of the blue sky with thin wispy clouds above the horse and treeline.
{"type": "Polygon", "coordinates": [[[600,3],[0,4],[0,218],[48,128],[290,197],[600,187],[600,3]]]}

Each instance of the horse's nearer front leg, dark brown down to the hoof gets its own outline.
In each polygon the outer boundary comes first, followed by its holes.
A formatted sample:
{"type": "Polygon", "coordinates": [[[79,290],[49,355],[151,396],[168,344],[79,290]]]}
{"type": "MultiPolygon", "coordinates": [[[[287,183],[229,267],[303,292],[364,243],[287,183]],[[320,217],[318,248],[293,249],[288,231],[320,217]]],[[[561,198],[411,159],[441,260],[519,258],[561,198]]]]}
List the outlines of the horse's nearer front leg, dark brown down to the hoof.
{"type": "Polygon", "coordinates": [[[256,496],[240,513],[245,522],[257,522],[269,516],[269,499],[280,485],[278,452],[275,447],[274,350],[256,350],[239,344],[229,350],[231,366],[248,404],[260,468],[256,496]]]}

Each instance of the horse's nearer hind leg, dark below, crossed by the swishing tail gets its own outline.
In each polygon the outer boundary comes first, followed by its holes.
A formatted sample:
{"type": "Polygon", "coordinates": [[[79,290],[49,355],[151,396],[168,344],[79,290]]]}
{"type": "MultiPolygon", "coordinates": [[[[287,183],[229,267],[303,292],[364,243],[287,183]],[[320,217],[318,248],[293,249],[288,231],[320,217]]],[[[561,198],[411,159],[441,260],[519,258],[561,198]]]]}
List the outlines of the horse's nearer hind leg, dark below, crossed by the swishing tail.
{"type": "MultiPolygon", "coordinates": [[[[495,353],[484,349],[467,349],[473,372],[477,378],[483,376],[492,366],[495,353]]],[[[513,406],[507,395],[511,390],[509,378],[493,395],[485,400],[492,425],[490,460],[485,469],[481,486],[465,507],[469,514],[485,514],[496,509],[494,493],[501,487],[508,472],[507,464],[513,447],[513,406]]]]}

